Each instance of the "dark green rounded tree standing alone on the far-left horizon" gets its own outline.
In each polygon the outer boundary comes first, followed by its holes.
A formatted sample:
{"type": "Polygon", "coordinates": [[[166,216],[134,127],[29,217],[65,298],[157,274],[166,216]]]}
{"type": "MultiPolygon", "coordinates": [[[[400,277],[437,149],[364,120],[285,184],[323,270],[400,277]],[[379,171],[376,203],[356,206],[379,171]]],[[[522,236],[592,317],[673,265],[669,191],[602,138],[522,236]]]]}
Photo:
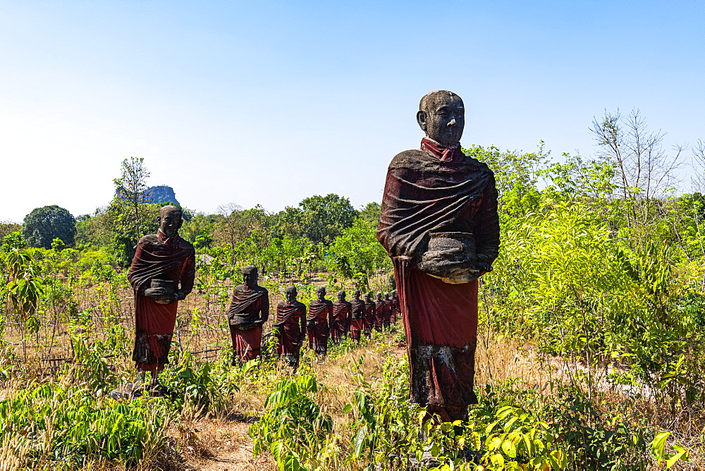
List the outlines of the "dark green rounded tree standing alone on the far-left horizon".
{"type": "Polygon", "coordinates": [[[30,247],[50,248],[55,238],[63,240],[66,245],[73,245],[76,233],[76,221],[68,209],[56,206],[43,206],[32,209],[25,216],[22,233],[30,247]]]}

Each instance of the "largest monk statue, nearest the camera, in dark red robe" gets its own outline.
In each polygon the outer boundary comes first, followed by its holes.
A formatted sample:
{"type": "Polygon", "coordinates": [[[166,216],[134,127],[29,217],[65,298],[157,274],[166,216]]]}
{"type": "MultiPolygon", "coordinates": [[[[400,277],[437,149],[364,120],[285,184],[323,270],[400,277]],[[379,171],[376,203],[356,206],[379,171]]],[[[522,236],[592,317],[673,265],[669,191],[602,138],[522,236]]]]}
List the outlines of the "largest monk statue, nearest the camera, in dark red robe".
{"type": "Polygon", "coordinates": [[[426,137],[389,164],[377,239],[394,265],[411,400],[443,421],[467,420],[477,402],[477,278],[499,250],[497,190],[486,164],[462,153],[457,94],[427,94],[417,121],[426,137]]]}

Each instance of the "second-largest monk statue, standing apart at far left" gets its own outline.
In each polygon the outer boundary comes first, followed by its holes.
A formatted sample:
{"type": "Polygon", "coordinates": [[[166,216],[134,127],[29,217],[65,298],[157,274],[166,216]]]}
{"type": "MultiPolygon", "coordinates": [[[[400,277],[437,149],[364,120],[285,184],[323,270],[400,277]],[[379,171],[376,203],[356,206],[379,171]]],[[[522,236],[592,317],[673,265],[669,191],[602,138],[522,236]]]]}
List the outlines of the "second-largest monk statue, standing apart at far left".
{"type": "Polygon", "coordinates": [[[171,337],[176,324],[178,301],[193,288],[195,251],[178,236],[183,224],[178,206],[159,209],[159,229],[137,242],[128,280],[135,290],[135,349],[133,360],[145,384],[152,372],[149,390],[163,393],[157,375],[168,363],[171,337]]]}

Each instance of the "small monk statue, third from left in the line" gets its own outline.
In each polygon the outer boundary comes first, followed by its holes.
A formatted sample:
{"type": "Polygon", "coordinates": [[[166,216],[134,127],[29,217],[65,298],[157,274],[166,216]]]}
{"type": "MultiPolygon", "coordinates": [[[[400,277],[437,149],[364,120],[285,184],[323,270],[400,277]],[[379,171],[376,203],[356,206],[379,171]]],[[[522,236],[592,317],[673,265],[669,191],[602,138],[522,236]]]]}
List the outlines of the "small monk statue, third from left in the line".
{"type": "Polygon", "coordinates": [[[284,290],[285,300],[276,305],[276,322],[272,324],[279,343],[276,353],[290,368],[299,367],[299,354],[306,332],[306,305],[296,300],[295,286],[284,290]]]}

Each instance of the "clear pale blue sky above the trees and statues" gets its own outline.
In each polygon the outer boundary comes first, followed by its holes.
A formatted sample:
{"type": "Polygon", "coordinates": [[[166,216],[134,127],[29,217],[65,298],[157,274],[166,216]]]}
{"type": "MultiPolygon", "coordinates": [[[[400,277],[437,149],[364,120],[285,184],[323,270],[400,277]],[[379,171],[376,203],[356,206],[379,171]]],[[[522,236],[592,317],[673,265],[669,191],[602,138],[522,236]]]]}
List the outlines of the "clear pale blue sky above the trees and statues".
{"type": "Polygon", "coordinates": [[[186,207],[379,201],[453,90],[463,145],[594,152],[605,109],[705,139],[700,1],[2,1],[0,221],[109,202],[120,162],[186,207]]]}

